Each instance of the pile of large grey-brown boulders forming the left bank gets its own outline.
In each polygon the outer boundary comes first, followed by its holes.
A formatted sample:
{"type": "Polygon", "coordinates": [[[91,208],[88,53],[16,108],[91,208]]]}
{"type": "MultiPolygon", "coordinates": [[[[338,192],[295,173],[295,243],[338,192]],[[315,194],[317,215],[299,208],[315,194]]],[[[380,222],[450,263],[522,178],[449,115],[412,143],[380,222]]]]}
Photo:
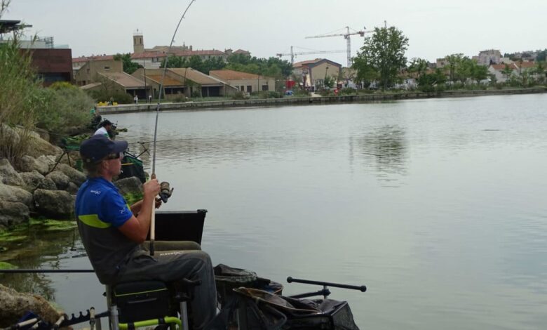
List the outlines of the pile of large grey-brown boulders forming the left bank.
{"type": "MultiPolygon", "coordinates": [[[[18,138],[15,130],[11,135],[18,138]]],[[[63,154],[60,147],[34,133],[27,154],[17,161],[17,169],[8,159],[0,159],[0,230],[27,223],[31,214],[74,220],[75,195],[86,180],[81,171],[69,165],[78,158],[78,152],[63,154]]],[[[137,178],[118,180],[116,185],[125,193],[142,191],[137,178]]]]}

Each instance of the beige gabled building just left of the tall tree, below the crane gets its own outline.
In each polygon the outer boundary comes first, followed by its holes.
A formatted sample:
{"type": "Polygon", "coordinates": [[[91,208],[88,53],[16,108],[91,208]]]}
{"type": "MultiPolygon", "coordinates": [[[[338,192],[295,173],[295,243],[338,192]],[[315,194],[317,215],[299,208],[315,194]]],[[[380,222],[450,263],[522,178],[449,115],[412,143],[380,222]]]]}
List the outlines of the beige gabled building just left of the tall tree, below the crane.
{"type": "Polygon", "coordinates": [[[341,64],[332,62],[326,58],[296,62],[292,65],[292,68],[293,74],[297,77],[302,77],[302,84],[305,88],[323,86],[326,77],[332,77],[332,79],[338,81],[342,72],[341,64]]]}

